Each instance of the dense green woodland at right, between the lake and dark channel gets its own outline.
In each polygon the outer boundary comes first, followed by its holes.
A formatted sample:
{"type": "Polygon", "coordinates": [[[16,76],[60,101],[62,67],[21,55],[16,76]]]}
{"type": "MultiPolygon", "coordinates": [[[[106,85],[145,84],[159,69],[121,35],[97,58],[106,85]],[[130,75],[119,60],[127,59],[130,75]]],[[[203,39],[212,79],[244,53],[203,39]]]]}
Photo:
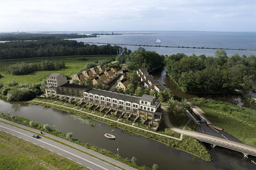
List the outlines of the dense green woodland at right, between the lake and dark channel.
{"type": "Polygon", "coordinates": [[[248,94],[256,86],[256,57],[228,57],[225,50],[217,50],[214,57],[177,53],[167,59],[166,73],[186,93],[240,89],[248,94]]]}

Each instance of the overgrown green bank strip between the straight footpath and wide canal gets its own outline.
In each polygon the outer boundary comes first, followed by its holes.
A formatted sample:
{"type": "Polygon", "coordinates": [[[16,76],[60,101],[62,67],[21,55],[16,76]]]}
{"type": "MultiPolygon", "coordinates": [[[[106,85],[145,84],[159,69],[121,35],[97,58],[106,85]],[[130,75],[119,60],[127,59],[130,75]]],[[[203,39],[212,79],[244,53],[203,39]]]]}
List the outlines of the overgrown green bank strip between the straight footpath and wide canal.
{"type": "MultiPolygon", "coordinates": [[[[99,120],[99,121],[107,123],[110,126],[122,128],[125,131],[133,132],[134,134],[137,134],[137,135],[146,136],[146,137],[150,138],[151,140],[156,140],[156,141],[165,143],[169,147],[173,147],[173,148],[176,148],[176,149],[181,149],[181,150],[186,151],[188,153],[192,153],[194,155],[197,155],[198,157],[202,158],[203,160],[210,161],[212,159],[210,157],[210,154],[208,153],[207,149],[204,147],[204,145],[202,143],[198,142],[195,138],[190,137],[190,136],[183,135],[182,141],[179,141],[179,140],[175,140],[175,139],[172,139],[172,138],[169,138],[169,137],[155,135],[153,133],[146,132],[144,130],[135,129],[135,128],[132,128],[132,127],[129,127],[129,126],[126,126],[126,125],[123,125],[123,124],[114,123],[114,122],[106,120],[106,119],[98,118],[96,116],[92,116],[92,115],[89,115],[89,114],[86,114],[86,113],[83,113],[83,112],[74,111],[72,109],[65,108],[65,107],[62,107],[62,106],[55,106],[51,103],[41,103],[41,102],[38,102],[36,100],[29,101],[28,103],[35,104],[35,105],[41,105],[41,106],[44,106],[44,107],[53,107],[53,108],[61,109],[61,110],[67,111],[71,114],[76,113],[76,114],[82,115],[82,117],[84,117],[84,118],[92,118],[92,119],[95,119],[95,120],[99,120]]],[[[140,128],[143,128],[143,127],[140,127],[140,128]]],[[[169,128],[166,128],[164,123],[161,124],[161,126],[159,127],[158,132],[161,133],[161,134],[165,134],[165,135],[169,135],[169,136],[173,136],[173,137],[178,137],[178,138],[180,137],[180,135],[177,134],[176,132],[171,131],[169,128]]]]}

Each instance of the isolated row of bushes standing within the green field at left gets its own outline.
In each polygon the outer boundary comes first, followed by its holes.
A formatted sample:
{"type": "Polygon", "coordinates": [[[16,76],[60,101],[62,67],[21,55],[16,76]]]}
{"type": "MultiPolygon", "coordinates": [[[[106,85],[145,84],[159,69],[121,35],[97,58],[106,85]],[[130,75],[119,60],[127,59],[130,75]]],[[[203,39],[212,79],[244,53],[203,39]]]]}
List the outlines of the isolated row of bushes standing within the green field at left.
{"type": "Polygon", "coordinates": [[[5,71],[7,74],[21,75],[38,70],[57,70],[62,68],[65,68],[65,63],[63,61],[41,61],[34,63],[16,63],[5,67],[5,71]]]}

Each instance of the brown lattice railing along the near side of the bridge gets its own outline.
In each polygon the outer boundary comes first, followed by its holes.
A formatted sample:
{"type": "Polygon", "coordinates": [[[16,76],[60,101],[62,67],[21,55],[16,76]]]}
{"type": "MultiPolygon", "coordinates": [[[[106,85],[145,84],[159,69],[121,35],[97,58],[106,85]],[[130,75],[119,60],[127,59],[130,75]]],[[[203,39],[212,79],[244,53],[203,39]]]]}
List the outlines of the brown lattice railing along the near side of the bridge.
{"type": "Polygon", "coordinates": [[[250,150],[247,150],[247,149],[244,149],[244,148],[241,148],[241,147],[230,145],[228,143],[224,143],[224,142],[220,142],[220,141],[217,141],[217,140],[212,140],[212,139],[208,139],[208,138],[204,138],[204,137],[196,137],[196,139],[198,139],[200,141],[203,141],[203,142],[216,144],[216,145],[219,145],[219,146],[231,148],[231,149],[234,149],[236,151],[240,151],[240,152],[243,152],[243,153],[248,153],[250,155],[256,156],[256,152],[254,152],[254,151],[250,151],[250,150]]]}

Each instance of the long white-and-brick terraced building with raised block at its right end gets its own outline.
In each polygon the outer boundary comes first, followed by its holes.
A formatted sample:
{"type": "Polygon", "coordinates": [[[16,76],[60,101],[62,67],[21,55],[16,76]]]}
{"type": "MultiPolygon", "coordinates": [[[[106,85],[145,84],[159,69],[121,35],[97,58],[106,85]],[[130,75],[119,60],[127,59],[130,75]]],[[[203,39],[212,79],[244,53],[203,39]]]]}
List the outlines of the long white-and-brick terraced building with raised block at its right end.
{"type": "Polygon", "coordinates": [[[108,111],[127,113],[134,118],[147,120],[154,126],[159,126],[162,121],[160,101],[156,100],[155,96],[136,97],[92,88],[84,92],[84,102],[106,108],[108,111]]]}

